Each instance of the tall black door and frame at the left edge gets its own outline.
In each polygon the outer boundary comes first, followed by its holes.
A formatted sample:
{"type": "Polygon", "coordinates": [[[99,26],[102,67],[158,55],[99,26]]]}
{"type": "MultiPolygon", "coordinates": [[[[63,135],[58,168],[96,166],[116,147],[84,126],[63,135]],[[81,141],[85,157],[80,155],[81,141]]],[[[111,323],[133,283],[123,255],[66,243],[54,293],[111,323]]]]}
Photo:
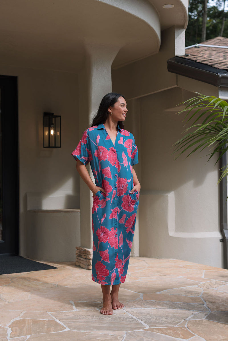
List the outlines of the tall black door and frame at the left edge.
{"type": "Polygon", "coordinates": [[[19,254],[19,162],[17,77],[1,76],[2,224],[0,254],[19,254]]]}

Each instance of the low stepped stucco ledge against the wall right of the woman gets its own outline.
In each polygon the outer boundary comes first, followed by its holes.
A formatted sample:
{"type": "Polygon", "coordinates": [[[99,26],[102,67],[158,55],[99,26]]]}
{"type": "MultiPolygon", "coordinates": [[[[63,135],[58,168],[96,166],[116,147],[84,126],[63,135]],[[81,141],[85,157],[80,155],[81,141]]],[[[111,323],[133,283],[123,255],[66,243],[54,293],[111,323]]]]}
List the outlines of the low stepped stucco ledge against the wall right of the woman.
{"type": "MultiPolygon", "coordinates": [[[[219,231],[176,231],[176,214],[180,212],[176,212],[174,192],[140,193],[139,219],[140,226],[144,226],[140,232],[140,256],[177,258],[222,267],[222,243],[219,242],[221,238],[219,231]]],[[[190,225],[186,221],[187,224],[190,225]]]]}

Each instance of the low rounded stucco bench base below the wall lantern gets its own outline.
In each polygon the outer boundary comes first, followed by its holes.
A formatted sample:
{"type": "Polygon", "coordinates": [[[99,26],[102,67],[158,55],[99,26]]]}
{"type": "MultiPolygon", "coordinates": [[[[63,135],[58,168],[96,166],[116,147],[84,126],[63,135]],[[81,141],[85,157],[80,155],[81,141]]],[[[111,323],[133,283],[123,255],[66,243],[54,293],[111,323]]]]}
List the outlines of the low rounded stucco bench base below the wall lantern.
{"type": "Polygon", "coordinates": [[[80,210],[29,210],[27,257],[39,261],[75,261],[80,245],[80,210]]]}

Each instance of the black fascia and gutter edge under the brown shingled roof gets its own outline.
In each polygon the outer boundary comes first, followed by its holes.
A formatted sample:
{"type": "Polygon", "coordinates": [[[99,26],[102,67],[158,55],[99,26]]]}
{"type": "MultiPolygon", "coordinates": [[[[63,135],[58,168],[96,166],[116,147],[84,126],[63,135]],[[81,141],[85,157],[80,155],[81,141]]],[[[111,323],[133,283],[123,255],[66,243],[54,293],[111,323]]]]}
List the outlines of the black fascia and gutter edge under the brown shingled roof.
{"type": "Polygon", "coordinates": [[[227,70],[216,69],[213,66],[177,56],[167,60],[167,69],[169,72],[200,80],[219,88],[228,88],[227,70]]]}

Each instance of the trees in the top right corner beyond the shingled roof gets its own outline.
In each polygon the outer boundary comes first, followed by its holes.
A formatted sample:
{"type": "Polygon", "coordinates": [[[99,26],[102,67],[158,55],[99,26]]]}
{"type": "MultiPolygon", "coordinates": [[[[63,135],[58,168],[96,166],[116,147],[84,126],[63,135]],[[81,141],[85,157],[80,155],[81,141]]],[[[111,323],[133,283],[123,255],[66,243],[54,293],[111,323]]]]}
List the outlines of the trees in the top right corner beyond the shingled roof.
{"type": "Polygon", "coordinates": [[[190,0],[186,46],[223,36],[228,38],[228,0],[190,0]]]}

